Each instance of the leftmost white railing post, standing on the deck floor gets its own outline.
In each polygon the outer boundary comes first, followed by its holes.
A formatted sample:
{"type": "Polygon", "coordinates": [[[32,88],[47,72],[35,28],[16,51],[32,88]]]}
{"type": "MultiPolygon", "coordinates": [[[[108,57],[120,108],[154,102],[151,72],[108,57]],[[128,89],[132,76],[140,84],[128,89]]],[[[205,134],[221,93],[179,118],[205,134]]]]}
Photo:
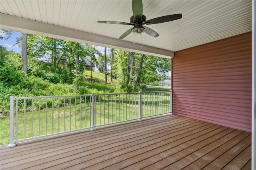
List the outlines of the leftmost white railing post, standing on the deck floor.
{"type": "Polygon", "coordinates": [[[14,96],[10,96],[10,144],[8,148],[15,147],[14,142],[14,96]]]}

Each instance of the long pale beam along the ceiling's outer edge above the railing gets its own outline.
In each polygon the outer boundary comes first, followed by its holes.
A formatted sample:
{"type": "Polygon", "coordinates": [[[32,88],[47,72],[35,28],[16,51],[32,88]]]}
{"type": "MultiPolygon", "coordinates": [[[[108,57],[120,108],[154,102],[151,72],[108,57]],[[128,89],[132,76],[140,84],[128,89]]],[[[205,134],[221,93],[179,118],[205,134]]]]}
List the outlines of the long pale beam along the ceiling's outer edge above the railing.
{"type": "Polygon", "coordinates": [[[140,44],[133,44],[131,42],[120,39],[104,37],[102,35],[86,33],[83,31],[60,27],[57,25],[52,25],[39,21],[28,20],[25,18],[20,18],[2,13],[0,13],[0,18],[1,29],[10,29],[13,31],[19,31],[23,33],[43,35],[46,37],[53,37],[58,39],[66,39],[80,43],[88,43],[92,45],[99,45],[102,47],[122,49],[126,51],[143,53],[147,55],[154,55],[165,58],[174,57],[173,51],[159,49],[156,47],[150,47],[146,45],[143,45],[143,47],[141,47],[140,44]]]}

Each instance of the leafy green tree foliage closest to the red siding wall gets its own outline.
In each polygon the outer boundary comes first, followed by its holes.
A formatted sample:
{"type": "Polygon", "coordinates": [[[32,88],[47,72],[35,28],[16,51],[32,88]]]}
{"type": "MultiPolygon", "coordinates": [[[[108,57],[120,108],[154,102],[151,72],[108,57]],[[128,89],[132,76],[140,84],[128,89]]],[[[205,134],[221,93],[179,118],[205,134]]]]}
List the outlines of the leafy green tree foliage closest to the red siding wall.
{"type": "Polygon", "coordinates": [[[142,54],[130,53],[129,55],[127,51],[115,49],[112,72],[126,92],[137,92],[141,89],[142,84],[158,82],[161,75],[164,76],[170,71],[170,66],[170,59],[167,58],[151,55],[144,55],[142,58],[142,54]],[[133,65],[130,64],[132,57],[134,59],[133,65]],[[140,59],[143,59],[141,67],[140,59]],[[139,68],[140,73],[138,74],[139,68]],[[130,75],[131,69],[132,75],[130,75]],[[136,79],[138,81],[134,90],[136,79]]]}

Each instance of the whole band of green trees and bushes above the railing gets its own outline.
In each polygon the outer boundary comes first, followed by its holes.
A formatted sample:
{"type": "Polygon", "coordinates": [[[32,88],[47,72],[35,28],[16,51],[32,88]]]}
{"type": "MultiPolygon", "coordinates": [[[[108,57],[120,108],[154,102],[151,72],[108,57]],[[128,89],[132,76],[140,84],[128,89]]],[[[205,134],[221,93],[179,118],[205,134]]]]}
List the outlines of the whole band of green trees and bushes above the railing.
{"type": "MultiPolygon", "coordinates": [[[[17,44],[20,45],[20,38],[17,39],[17,44]]],[[[113,82],[110,82],[111,78],[108,77],[108,84],[105,85],[104,74],[93,72],[91,82],[91,72],[84,70],[84,65],[91,63],[96,64],[101,72],[104,70],[104,57],[92,45],[28,35],[27,48],[28,73],[26,74],[22,71],[20,53],[7,51],[1,47],[1,114],[8,114],[11,95],[61,96],[140,91],[142,84],[158,82],[170,71],[170,59],[115,49],[112,70],[110,70],[113,82]],[[98,61],[96,61],[97,55],[98,61]],[[66,67],[60,66],[63,57],[66,60],[64,65],[66,67]],[[76,65],[78,57],[79,62],[76,65]],[[134,82],[137,82],[136,88],[134,82]],[[75,90],[75,83],[79,84],[78,91],[75,90]]],[[[111,54],[108,54],[108,68],[111,62],[111,54]]]]}

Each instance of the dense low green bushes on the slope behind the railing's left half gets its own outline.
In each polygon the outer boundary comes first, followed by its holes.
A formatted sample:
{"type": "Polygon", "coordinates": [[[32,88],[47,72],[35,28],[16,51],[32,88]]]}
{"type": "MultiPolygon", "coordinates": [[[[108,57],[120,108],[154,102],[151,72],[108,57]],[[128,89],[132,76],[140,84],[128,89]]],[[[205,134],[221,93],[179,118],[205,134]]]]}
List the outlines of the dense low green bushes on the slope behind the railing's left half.
{"type": "MultiPolygon", "coordinates": [[[[10,96],[31,97],[31,96],[63,96],[74,94],[92,93],[112,93],[116,90],[112,84],[105,85],[102,82],[104,74],[93,73],[94,82],[86,81],[86,74],[78,75],[80,90],[75,90],[74,73],[69,72],[68,68],[54,68],[52,64],[29,59],[28,74],[21,70],[21,58],[19,53],[7,51],[0,46],[0,114],[9,114],[10,96]],[[84,79],[83,79],[84,78],[84,79]],[[96,83],[95,83],[96,82],[96,83]]],[[[86,71],[87,75],[90,71],[86,71]]],[[[34,101],[35,104],[38,101],[34,101]]],[[[74,101],[72,101],[74,102],[74,101]]],[[[26,101],[29,106],[31,100],[26,101]]],[[[54,106],[58,102],[54,101],[54,106]]],[[[41,101],[42,106],[46,106],[46,101],[41,101]]],[[[47,101],[47,106],[52,106],[52,101],[47,101]]],[[[20,104],[18,107],[23,107],[20,104]]],[[[27,108],[29,110],[31,108],[27,108]]]]}

